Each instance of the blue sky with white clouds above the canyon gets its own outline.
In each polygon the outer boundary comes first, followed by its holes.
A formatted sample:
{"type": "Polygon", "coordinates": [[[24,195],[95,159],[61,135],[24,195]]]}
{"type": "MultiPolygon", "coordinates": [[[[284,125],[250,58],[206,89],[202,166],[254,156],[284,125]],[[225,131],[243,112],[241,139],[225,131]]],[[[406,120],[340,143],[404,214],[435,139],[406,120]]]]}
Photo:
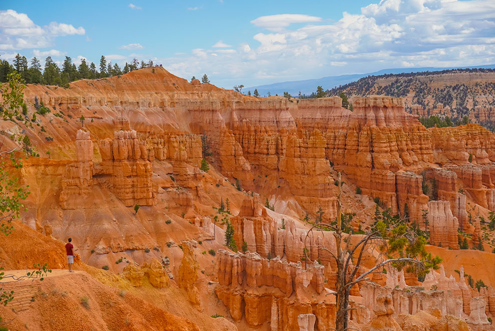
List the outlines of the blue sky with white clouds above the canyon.
{"type": "Polygon", "coordinates": [[[70,56],[256,86],[495,64],[495,0],[0,1],[0,59],[70,56]]]}

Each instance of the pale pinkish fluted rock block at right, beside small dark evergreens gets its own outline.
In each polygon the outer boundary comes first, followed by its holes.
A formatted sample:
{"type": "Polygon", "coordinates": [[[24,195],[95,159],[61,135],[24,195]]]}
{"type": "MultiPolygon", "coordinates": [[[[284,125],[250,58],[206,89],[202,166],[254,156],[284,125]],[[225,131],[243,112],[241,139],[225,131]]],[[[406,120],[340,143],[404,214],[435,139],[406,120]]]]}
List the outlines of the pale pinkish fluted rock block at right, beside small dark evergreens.
{"type": "Polygon", "coordinates": [[[428,223],[430,226],[430,242],[432,245],[459,249],[457,230],[459,222],[452,215],[450,202],[429,201],[428,223]]]}

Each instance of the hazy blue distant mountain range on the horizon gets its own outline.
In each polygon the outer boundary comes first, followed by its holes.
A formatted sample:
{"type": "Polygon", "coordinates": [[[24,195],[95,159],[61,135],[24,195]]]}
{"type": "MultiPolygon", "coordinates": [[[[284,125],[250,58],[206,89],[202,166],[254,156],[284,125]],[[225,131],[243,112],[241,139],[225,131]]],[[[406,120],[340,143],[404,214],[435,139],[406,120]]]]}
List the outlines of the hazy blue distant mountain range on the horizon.
{"type": "Polygon", "coordinates": [[[292,81],[292,82],[281,82],[269,85],[260,85],[245,87],[243,91],[251,91],[253,93],[255,89],[258,89],[260,96],[267,96],[268,92],[271,95],[283,95],[284,92],[289,92],[293,96],[297,96],[299,92],[302,94],[310,95],[312,92],[316,92],[318,86],[323,87],[324,90],[330,90],[339,85],[344,85],[350,82],[357,81],[360,78],[367,76],[379,76],[385,74],[402,74],[402,73],[415,73],[415,72],[425,72],[425,71],[441,71],[450,69],[468,69],[468,68],[484,68],[484,69],[495,69],[495,65],[485,65],[485,66],[469,66],[469,67],[448,67],[448,68],[435,68],[435,67],[424,67],[424,68],[399,68],[399,69],[383,69],[373,73],[367,74],[351,74],[351,75],[341,75],[341,76],[328,76],[319,79],[308,79],[304,81],[292,81]]]}

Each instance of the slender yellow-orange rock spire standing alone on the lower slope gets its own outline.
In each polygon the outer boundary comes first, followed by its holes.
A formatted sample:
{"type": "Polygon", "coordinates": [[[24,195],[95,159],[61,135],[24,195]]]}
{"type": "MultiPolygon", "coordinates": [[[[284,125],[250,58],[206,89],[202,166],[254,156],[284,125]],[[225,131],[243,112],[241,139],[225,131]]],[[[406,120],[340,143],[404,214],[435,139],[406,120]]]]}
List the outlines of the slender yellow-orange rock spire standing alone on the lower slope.
{"type": "Polygon", "coordinates": [[[199,269],[199,264],[196,256],[194,255],[192,243],[183,240],[182,251],[184,252],[184,255],[182,256],[182,262],[179,266],[177,284],[180,288],[187,291],[189,301],[196,307],[196,309],[202,311],[203,308],[201,307],[199,291],[195,286],[196,280],[198,279],[197,271],[199,269]]]}

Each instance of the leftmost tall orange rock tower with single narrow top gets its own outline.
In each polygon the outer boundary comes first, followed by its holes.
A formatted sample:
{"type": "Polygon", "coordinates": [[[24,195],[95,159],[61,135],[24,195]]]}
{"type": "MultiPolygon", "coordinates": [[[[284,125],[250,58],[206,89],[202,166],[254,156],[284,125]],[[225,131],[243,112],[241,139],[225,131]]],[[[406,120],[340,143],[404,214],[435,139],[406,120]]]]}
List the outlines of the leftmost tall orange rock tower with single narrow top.
{"type": "Polygon", "coordinates": [[[76,162],[68,164],[62,178],[60,204],[64,209],[81,206],[93,186],[93,142],[89,132],[77,131],[76,162]]]}

